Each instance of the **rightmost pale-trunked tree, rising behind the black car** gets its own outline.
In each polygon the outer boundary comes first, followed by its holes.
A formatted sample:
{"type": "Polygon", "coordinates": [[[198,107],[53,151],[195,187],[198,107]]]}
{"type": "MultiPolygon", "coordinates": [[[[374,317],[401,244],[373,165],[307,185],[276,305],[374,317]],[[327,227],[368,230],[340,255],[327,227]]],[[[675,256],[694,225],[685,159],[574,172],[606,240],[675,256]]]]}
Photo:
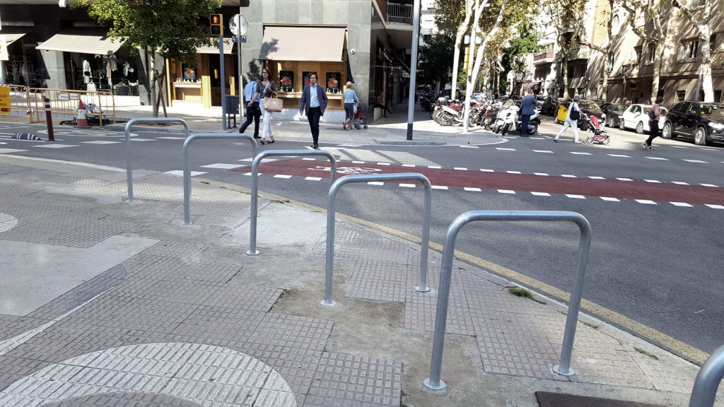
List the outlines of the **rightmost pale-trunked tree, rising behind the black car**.
{"type": "MultiPolygon", "coordinates": [[[[699,66],[699,75],[702,76],[704,88],[704,101],[714,101],[714,87],[712,85],[712,0],[692,1],[689,7],[684,7],[678,0],[673,0],[673,6],[681,14],[689,18],[699,30],[699,49],[702,51],[702,64],[699,66]]],[[[696,95],[699,98],[699,95],[696,95]]]]}

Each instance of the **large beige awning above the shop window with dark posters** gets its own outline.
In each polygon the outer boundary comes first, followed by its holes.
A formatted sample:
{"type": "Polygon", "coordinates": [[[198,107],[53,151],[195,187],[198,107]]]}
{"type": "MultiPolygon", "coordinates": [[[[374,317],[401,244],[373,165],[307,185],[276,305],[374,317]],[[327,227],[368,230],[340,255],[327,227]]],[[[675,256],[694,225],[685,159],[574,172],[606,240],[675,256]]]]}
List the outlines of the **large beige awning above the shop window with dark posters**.
{"type": "Polygon", "coordinates": [[[341,62],[345,28],[266,27],[259,59],[341,62]]]}

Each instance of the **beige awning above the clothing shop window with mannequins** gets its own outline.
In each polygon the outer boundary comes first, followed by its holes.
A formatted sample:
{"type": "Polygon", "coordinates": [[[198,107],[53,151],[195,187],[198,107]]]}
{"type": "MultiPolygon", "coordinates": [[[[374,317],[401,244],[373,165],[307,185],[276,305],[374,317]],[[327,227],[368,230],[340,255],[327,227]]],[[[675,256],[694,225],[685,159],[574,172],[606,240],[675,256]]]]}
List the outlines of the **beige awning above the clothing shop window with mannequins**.
{"type": "Polygon", "coordinates": [[[122,43],[123,41],[118,39],[111,41],[105,30],[71,28],[53,35],[35,49],[108,55],[115,54],[122,43]]]}

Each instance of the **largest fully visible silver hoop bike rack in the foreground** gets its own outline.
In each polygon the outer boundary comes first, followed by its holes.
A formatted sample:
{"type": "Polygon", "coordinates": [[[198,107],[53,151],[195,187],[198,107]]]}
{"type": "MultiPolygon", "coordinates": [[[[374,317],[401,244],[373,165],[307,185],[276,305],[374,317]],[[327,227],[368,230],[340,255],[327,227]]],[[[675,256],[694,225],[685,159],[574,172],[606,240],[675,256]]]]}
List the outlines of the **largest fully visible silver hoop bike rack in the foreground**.
{"type": "Polygon", "coordinates": [[[568,306],[568,316],[565,320],[565,333],[563,334],[563,349],[560,352],[560,362],[553,366],[557,374],[563,376],[573,375],[571,369],[571,352],[573,351],[573,337],[576,336],[576,322],[578,311],[581,309],[581,295],[584,291],[584,274],[586,261],[591,248],[591,225],[581,214],[568,211],[468,211],[455,218],[447,228],[445,247],[442,249],[442,268],[440,270],[440,285],[437,293],[437,311],[435,312],[435,332],[432,343],[432,361],[430,363],[430,377],[423,381],[425,387],[432,390],[442,390],[445,382],[440,379],[442,370],[442,348],[445,343],[445,324],[447,323],[447,304],[450,300],[450,278],[452,274],[452,257],[455,253],[455,239],[458,232],[469,222],[478,220],[498,221],[539,221],[539,222],[573,222],[581,230],[578,240],[578,264],[576,277],[573,280],[573,293],[571,304],[568,306]]]}

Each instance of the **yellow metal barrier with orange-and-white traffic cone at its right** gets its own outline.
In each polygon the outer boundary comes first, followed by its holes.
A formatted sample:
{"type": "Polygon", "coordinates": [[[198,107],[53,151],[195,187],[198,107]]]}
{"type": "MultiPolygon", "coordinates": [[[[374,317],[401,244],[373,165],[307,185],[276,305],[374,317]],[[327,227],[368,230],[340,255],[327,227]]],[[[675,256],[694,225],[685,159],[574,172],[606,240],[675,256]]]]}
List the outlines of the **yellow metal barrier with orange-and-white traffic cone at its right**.
{"type": "MultiPolygon", "coordinates": [[[[86,106],[95,104],[98,111],[91,109],[86,116],[98,117],[99,126],[103,127],[103,119],[116,122],[116,101],[110,92],[104,91],[76,91],[68,89],[30,88],[28,89],[28,106],[35,110],[35,117],[40,119],[41,112],[45,112],[45,98],[50,99],[53,114],[78,114],[78,102],[83,101],[86,106]]],[[[43,114],[43,117],[45,114],[43,114]]]]}

